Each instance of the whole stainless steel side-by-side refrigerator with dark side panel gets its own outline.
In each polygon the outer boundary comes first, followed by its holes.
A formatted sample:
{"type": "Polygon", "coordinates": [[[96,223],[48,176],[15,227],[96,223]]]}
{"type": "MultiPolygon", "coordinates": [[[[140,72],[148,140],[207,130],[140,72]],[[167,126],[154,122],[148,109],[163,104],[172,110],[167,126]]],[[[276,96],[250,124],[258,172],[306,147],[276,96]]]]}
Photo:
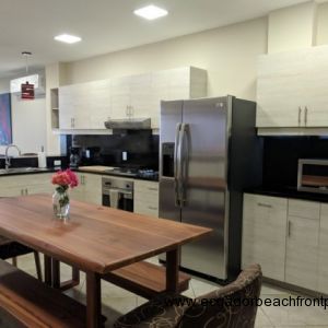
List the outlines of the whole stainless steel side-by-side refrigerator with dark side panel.
{"type": "Polygon", "coordinates": [[[161,103],[160,218],[213,230],[181,247],[181,268],[239,272],[243,189],[261,179],[255,108],[234,96],[161,103]]]}

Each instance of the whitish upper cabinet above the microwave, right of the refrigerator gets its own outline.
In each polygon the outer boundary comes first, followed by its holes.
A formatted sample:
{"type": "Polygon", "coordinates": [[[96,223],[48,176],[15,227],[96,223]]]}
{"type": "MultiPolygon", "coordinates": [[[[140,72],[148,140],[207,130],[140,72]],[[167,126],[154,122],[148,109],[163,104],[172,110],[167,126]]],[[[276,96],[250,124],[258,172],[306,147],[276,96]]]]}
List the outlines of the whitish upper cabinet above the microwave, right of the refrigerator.
{"type": "Polygon", "coordinates": [[[328,47],[258,59],[258,128],[328,126],[328,47]]]}

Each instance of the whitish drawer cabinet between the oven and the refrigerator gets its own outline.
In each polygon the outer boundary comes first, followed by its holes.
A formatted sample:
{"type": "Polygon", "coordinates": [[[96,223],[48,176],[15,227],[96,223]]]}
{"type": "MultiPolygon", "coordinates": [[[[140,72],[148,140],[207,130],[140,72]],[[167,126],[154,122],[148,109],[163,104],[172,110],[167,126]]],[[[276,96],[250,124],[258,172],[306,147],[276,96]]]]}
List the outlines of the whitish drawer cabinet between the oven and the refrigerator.
{"type": "Polygon", "coordinates": [[[159,183],[134,180],[134,213],[159,216],[159,183]]]}

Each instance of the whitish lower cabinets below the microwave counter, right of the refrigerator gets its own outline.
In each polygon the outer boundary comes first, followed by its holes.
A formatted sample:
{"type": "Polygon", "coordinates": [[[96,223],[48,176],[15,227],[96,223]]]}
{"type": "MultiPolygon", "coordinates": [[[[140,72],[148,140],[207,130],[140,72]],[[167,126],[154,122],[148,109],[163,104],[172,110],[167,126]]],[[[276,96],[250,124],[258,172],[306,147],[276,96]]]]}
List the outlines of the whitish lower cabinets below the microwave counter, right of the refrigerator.
{"type": "Polygon", "coordinates": [[[242,266],[263,276],[328,293],[328,204],[244,195],[242,266]]]}

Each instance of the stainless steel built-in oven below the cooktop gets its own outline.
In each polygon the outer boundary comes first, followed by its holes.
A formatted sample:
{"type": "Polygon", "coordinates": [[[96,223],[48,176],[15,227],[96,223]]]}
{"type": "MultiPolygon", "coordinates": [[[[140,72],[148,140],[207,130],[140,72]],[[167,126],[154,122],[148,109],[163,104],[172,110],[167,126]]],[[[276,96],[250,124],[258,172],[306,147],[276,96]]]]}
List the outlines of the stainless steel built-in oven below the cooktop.
{"type": "Polygon", "coordinates": [[[133,181],[103,177],[103,206],[133,212],[133,181]]]}

